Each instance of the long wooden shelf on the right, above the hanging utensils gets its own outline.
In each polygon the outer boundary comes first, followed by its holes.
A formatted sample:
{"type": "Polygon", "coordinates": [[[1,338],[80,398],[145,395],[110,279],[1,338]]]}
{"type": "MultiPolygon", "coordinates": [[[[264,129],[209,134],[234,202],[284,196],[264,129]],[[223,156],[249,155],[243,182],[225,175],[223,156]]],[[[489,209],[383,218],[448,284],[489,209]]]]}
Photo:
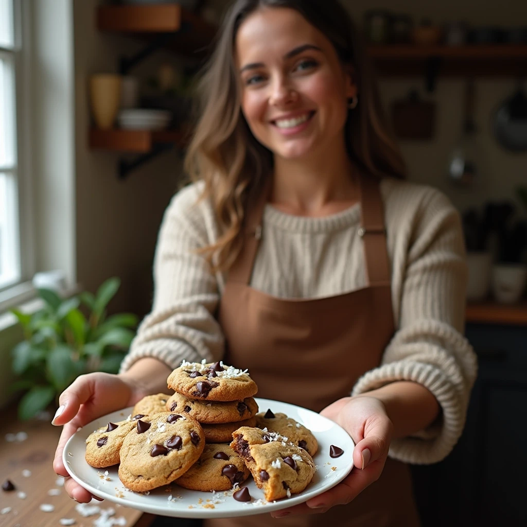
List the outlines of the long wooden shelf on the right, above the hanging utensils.
{"type": "Polygon", "coordinates": [[[502,77],[527,73],[527,44],[370,45],[367,53],[381,76],[423,74],[431,59],[440,62],[440,76],[502,77]]]}

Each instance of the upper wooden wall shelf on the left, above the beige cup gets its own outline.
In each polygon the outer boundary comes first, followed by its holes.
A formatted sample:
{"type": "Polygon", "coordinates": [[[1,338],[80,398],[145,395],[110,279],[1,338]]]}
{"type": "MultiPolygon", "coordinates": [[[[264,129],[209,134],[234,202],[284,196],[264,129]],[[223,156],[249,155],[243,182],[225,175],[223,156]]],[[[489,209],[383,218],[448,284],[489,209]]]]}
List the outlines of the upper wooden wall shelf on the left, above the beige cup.
{"type": "Polygon", "coordinates": [[[97,8],[97,29],[148,36],[173,33],[167,47],[179,53],[201,55],[216,28],[178,4],[102,5],[97,8]]]}

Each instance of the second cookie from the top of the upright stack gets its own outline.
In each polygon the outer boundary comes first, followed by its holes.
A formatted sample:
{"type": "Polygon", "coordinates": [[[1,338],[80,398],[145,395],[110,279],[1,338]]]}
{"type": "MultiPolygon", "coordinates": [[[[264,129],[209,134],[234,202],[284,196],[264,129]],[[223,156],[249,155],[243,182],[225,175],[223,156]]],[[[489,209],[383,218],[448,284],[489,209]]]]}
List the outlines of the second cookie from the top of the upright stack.
{"type": "Polygon", "coordinates": [[[258,405],[252,397],[243,401],[199,401],[176,392],[167,401],[167,411],[189,414],[199,423],[232,423],[256,415],[258,405]]]}

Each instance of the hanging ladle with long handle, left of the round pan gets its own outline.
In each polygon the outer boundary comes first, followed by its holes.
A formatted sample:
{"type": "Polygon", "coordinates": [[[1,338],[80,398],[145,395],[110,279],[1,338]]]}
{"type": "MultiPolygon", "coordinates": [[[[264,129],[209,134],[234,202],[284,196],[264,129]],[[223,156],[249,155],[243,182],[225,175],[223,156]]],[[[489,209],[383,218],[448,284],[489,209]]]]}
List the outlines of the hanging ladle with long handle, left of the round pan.
{"type": "Polygon", "coordinates": [[[469,79],[465,89],[463,132],[448,159],[448,177],[462,187],[469,187],[477,176],[478,146],[474,122],[474,92],[474,80],[469,79]]]}

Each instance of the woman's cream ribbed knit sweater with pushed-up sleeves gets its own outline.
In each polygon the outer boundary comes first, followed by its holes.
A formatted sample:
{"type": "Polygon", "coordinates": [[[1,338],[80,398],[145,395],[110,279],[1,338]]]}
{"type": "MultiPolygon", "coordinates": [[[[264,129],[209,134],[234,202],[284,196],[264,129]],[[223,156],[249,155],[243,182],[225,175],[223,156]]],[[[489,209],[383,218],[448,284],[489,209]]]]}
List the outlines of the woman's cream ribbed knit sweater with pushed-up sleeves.
{"type": "MultiPolygon", "coordinates": [[[[121,372],[140,357],[171,368],[182,359],[220,360],[224,339],[214,313],[225,287],[194,249],[218,237],[201,186],[178,192],[165,212],[154,261],[155,291],[121,372]]],[[[442,407],[428,430],[392,442],[390,455],[411,463],[442,460],[465,422],[476,376],[475,354],[463,337],[466,267],[460,217],[439,191],[395,179],[382,181],[396,333],[382,364],[358,379],[353,394],[394,380],[426,386],[442,407]]],[[[366,285],[360,204],[323,218],[291,216],[269,204],[251,286],[270,295],[310,298],[366,285]],[[309,256],[309,257],[308,257],[309,256]]]]}

